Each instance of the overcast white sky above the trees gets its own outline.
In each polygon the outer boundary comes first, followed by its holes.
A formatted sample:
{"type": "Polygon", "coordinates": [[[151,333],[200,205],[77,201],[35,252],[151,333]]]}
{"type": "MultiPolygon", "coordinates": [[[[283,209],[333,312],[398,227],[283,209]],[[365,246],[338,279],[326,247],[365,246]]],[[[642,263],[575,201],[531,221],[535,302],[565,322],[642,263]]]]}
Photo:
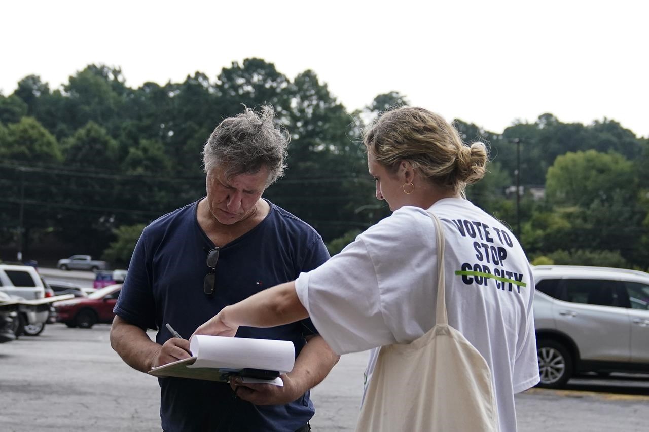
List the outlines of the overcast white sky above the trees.
{"type": "Polygon", "coordinates": [[[649,17],[616,1],[18,1],[0,3],[0,89],[51,88],[90,63],[127,84],[211,80],[260,57],[313,69],[351,112],[396,90],[411,104],[502,132],[550,112],[615,119],[649,136],[649,17]]]}

